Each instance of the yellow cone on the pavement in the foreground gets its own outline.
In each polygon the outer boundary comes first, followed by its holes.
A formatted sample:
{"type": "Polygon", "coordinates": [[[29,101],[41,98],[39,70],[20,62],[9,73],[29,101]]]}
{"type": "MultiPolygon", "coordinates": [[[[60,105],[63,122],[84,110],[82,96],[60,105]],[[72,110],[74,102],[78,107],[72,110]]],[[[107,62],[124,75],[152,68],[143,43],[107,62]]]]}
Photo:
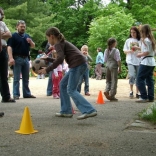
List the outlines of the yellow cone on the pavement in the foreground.
{"type": "Polygon", "coordinates": [[[34,130],[34,128],[33,128],[33,124],[31,121],[28,107],[25,107],[25,109],[24,109],[20,129],[15,132],[20,133],[20,134],[32,134],[32,133],[38,132],[38,131],[34,130]]]}

